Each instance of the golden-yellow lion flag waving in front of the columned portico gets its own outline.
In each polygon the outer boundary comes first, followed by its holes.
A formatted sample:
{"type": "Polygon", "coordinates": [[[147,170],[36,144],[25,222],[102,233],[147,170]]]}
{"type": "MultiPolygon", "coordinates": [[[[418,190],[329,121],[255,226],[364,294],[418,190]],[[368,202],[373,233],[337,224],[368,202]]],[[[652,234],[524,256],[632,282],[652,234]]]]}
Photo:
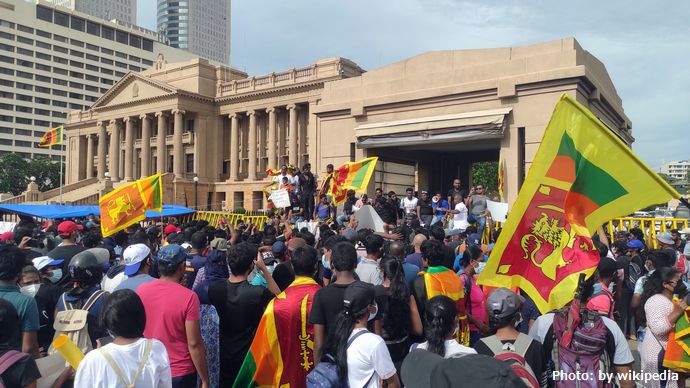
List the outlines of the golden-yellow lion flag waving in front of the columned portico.
{"type": "Polygon", "coordinates": [[[161,211],[163,182],[161,174],[119,187],[98,200],[101,209],[101,232],[110,236],[146,218],[147,210],[161,211]]]}

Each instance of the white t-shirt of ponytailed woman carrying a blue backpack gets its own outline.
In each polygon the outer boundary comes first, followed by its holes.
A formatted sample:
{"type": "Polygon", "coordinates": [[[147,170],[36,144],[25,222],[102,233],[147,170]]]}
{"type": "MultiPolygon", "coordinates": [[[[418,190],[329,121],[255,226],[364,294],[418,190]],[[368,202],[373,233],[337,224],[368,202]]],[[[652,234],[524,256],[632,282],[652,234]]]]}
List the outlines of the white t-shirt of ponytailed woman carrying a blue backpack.
{"type": "MultiPolygon", "coordinates": [[[[354,329],[350,334],[364,329],[354,329]]],[[[386,342],[374,333],[364,333],[347,348],[347,381],[351,387],[378,388],[381,380],[395,374],[386,342]],[[373,376],[373,378],[372,378],[373,376]],[[365,385],[369,381],[368,385],[365,385]]]]}

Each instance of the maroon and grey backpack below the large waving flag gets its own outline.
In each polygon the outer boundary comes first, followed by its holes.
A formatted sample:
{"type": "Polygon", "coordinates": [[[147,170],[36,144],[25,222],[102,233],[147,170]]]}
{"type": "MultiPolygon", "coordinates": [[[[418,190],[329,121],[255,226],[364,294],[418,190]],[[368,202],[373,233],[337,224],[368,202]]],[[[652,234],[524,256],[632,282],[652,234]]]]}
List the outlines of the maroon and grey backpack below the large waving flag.
{"type": "Polygon", "coordinates": [[[599,373],[611,373],[612,356],[616,351],[616,343],[609,332],[601,315],[593,311],[582,312],[581,322],[573,331],[573,339],[569,347],[564,347],[558,341],[563,336],[567,326],[567,309],[557,311],[553,317],[553,325],[544,338],[544,351],[551,355],[552,371],[563,374],[577,374],[589,376],[589,379],[557,380],[558,388],[612,388],[613,383],[599,380],[599,373]]]}

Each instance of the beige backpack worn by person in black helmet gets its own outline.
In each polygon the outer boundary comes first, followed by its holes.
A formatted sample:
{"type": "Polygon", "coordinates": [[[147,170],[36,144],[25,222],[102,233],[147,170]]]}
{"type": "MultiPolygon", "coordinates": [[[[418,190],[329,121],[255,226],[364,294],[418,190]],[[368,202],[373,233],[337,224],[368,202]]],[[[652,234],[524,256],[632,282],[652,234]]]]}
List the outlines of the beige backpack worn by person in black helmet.
{"type": "MultiPolygon", "coordinates": [[[[55,315],[55,322],[53,323],[55,337],[53,337],[53,341],[61,334],[64,334],[69,337],[84,354],[93,350],[91,338],[89,337],[89,310],[93,304],[105,294],[106,292],[103,290],[94,292],[80,308],[74,308],[71,303],[65,300],[65,294],[62,294],[62,304],[65,306],[65,309],[55,315]]],[[[48,354],[55,354],[56,352],[57,350],[51,344],[48,349],[48,354]]]]}

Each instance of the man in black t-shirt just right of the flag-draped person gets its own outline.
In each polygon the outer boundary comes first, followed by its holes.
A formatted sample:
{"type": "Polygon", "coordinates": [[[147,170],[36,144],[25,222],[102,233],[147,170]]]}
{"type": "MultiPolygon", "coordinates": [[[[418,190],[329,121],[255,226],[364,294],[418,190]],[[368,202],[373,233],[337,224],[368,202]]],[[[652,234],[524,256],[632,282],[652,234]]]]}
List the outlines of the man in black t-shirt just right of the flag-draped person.
{"type": "Polygon", "coordinates": [[[335,282],[318,290],[314,295],[309,322],[314,325],[314,363],[321,362],[327,349],[328,339],[333,338],[338,314],[343,309],[345,289],[355,281],[354,269],[357,264],[357,251],[349,242],[339,242],[333,246],[330,267],[335,282]]]}

